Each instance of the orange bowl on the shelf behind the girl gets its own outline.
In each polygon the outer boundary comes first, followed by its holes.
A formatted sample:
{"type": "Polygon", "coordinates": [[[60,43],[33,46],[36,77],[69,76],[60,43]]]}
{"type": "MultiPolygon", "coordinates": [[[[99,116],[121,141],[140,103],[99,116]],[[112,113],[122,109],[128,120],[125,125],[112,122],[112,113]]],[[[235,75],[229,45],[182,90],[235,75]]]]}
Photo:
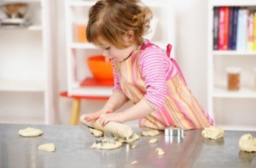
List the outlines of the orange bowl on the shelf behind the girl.
{"type": "Polygon", "coordinates": [[[96,80],[113,80],[113,68],[111,62],[102,55],[87,58],[91,74],[96,80]]]}

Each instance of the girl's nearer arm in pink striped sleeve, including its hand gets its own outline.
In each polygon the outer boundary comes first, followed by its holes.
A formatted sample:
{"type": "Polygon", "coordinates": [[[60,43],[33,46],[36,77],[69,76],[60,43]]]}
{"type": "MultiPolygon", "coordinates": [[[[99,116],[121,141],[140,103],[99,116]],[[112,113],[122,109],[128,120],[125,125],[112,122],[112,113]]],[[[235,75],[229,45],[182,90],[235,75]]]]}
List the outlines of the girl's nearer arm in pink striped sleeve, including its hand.
{"type": "Polygon", "coordinates": [[[147,92],[144,98],[123,113],[103,115],[100,117],[102,125],[109,121],[125,122],[142,118],[154,110],[160,109],[166,100],[167,82],[166,72],[174,70],[168,66],[170,59],[160,49],[144,50],[139,58],[139,67],[145,81],[147,92]]]}

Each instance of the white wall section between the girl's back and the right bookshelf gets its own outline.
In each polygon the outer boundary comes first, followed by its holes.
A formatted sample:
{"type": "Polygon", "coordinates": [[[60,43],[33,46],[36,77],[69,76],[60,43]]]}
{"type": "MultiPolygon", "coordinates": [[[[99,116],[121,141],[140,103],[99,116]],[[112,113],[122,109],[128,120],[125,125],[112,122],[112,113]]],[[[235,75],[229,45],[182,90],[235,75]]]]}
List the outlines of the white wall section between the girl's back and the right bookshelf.
{"type": "Polygon", "coordinates": [[[207,109],[207,1],[175,3],[177,61],[189,88],[207,109]]]}

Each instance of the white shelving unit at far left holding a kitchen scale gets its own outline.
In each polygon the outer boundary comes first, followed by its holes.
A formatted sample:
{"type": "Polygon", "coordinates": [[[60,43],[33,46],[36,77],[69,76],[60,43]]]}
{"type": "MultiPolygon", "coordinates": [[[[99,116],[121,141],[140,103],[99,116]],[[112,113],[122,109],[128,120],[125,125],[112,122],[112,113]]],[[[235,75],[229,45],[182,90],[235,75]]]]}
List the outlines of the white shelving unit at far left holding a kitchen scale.
{"type": "MultiPolygon", "coordinates": [[[[49,0],[27,3],[27,27],[0,27],[0,122],[52,124],[53,53],[49,0]]],[[[0,14],[0,18],[4,18],[0,14]]]]}

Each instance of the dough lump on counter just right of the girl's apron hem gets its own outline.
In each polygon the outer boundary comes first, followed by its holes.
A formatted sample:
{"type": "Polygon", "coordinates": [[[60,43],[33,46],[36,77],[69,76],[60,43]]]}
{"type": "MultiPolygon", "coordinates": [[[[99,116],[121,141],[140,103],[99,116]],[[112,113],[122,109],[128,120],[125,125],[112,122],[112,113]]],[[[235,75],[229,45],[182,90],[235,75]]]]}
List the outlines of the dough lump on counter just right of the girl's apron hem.
{"type": "Polygon", "coordinates": [[[201,135],[209,139],[218,139],[218,138],[224,137],[224,129],[218,128],[215,126],[210,126],[205,128],[201,132],[201,135]]]}

